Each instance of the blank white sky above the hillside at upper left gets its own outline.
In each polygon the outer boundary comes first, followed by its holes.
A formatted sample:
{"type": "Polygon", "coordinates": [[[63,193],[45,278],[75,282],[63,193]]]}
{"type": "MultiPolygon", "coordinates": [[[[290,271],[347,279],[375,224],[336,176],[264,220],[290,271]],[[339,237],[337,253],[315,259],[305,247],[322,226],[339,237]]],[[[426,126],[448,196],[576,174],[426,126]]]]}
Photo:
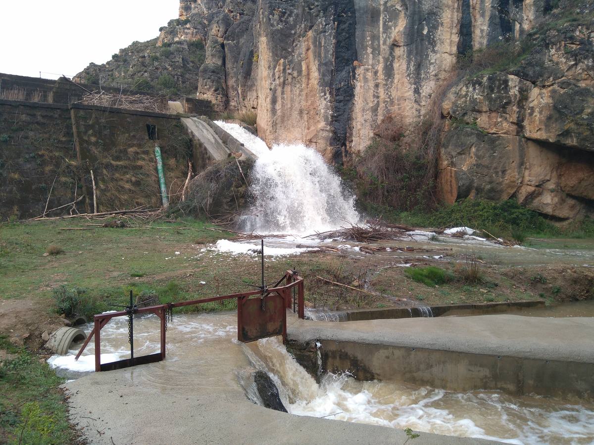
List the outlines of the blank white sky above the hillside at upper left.
{"type": "Polygon", "coordinates": [[[179,0],[1,0],[0,72],[55,79],[159,36],[179,0]]]}

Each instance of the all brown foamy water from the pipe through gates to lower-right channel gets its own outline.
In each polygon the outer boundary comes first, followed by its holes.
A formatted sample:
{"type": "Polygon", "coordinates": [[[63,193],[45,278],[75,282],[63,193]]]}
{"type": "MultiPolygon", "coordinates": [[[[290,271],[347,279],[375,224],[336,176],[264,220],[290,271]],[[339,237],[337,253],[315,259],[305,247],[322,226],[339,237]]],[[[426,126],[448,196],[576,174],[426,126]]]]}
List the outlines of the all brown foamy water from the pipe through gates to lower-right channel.
{"type": "MultiPolygon", "coordinates": [[[[90,332],[91,325],[84,326],[90,332]]],[[[236,341],[233,313],[176,315],[169,325],[167,362],[174,367],[146,365],[139,374],[147,387],[185,381],[197,367],[232,367],[232,357],[247,357],[253,368],[267,371],[279,387],[292,414],[327,417],[394,428],[482,437],[525,444],[590,444],[594,441],[594,405],[565,403],[539,397],[512,397],[499,392],[449,392],[400,383],[358,382],[347,375],[325,374],[321,384],[309,376],[277,338],[248,345],[236,341]],[[222,349],[225,354],[220,354],[222,349]],[[223,363],[231,360],[232,363],[223,363]]],[[[102,361],[127,358],[128,326],[124,317],[102,330],[102,361]]],[[[159,351],[159,320],[137,317],[134,323],[135,354],[159,351]]],[[[62,370],[74,367],[74,353],[50,359],[62,370]]],[[[92,342],[79,371],[92,371],[92,342]]],[[[251,372],[251,371],[250,371],[251,372]]],[[[238,371],[238,376],[241,373],[238,371]]],[[[188,384],[208,384],[189,382],[188,384]]],[[[253,387],[245,387],[257,400],[253,387]]]]}

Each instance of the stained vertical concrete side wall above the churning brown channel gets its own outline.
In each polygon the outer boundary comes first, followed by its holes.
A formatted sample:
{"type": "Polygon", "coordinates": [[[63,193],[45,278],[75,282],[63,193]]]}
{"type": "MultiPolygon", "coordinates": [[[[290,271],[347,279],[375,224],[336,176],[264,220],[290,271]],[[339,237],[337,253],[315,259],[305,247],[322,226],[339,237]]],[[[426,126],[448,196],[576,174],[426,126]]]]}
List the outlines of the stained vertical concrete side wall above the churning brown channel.
{"type": "Polygon", "coordinates": [[[321,341],[324,370],[358,380],[406,382],[452,391],[500,390],[513,395],[591,398],[594,364],[502,355],[321,341]]]}

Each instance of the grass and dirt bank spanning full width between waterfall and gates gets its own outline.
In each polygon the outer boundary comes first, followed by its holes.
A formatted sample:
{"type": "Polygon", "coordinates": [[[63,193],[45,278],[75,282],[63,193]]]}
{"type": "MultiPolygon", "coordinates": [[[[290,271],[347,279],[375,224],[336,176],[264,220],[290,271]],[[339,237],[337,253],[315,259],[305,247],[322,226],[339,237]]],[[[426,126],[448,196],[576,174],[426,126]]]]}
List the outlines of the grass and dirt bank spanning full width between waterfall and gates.
{"type": "MultiPolygon", "coordinates": [[[[59,285],[85,287],[99,299],[119,303],[129,290],[150,291],[157,298],[166,292],[174,300],[189,300],[258,284],[257,256],[210,249],[229,234],[200,222],[156,225],[154,231],[90,230],[75,221],[0,228],[0,334],[43,352],[42,334],[64,325],[53,312],[52,291],[59,285]],[[73,231],[75,227],[85,230],[73,231]],[[58,244],[65,252],[43,255],[48,244],[58,244]]],[[[393,241],[375,246],[389,251],[361,246],[267,258],[265,269],[267,281],[297,269],[306,280],[307,306],[321,310],[525,300],[555,304],[594,298],[594,269],[583,265],[594,252],[589,240],[531,243],[534,248],[492,249],[447,240],[415,241],[407,242],[412,247],[407,251],[402,241],[393,241]],[[476,258],[480,275],[473,283],[465,282],[460,273],[469,257],[476,258]],[[405,264],[437,266],[453,279],[428,287],[413,281],[405,264]]]]}

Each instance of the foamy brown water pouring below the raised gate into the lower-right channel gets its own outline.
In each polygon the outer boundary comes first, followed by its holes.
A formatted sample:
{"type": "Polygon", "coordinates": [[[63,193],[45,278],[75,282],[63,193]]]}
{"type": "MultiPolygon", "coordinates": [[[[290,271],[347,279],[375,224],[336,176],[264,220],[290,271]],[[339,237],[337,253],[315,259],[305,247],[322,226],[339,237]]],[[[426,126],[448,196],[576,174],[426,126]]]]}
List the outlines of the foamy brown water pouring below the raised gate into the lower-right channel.
{"type": "MultiPolygon", "coordinates": [[[[318,385],[276,338],[257,342],[291,414],[511,444],[594,440],[594,406],[503,393],[449,392],[327,373],[318,385]]],[[[260,364],[262,366],[262,364],[260,364]]]]}

